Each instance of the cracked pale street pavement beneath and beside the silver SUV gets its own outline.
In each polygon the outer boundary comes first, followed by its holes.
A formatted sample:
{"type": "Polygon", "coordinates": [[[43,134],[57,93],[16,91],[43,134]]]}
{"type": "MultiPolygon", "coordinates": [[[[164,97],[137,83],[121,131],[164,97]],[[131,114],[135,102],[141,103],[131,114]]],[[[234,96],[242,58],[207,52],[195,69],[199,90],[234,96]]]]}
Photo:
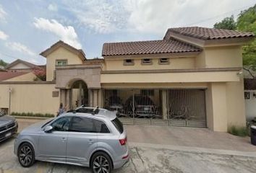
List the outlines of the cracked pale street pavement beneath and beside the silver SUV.
{"type": "MultiPolygon", "coordinates": [[[[51,164],[37,161],[30,168],[23,168],[13,154],[14,139],[0,145],[0,172],[90,172],[84,167],[51,164]]],[[[168,148],[130,147],[131,161],[115,172],[255,172],[256,157],[207,154],[195,151],[179,151],[168,148]]]]}

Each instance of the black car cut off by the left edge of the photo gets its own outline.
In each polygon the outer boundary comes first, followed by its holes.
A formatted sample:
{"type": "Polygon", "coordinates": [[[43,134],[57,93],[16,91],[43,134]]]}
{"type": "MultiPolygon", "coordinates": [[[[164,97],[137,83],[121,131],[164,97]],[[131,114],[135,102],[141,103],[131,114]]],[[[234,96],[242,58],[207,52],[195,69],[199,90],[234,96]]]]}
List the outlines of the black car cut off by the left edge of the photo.
{"type": "Polygon", "coordinates": [[[14,117],[0,112],[0,142],[12,137],[18,130],[18,123],[14,117]]]}

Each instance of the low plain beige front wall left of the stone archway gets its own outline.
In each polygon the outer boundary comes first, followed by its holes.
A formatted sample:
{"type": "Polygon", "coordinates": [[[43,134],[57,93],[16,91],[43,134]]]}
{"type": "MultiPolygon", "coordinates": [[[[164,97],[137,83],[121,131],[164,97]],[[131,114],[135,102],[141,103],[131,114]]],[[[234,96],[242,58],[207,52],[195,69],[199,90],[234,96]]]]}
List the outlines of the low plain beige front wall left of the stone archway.
{"type": "Polygon", "coordinates": [[[0,108],[9,108],[9,86],[12,87],[11,112],[56,114],[59,97],[52,97],[55,84],[0,84],[0,108]]]}

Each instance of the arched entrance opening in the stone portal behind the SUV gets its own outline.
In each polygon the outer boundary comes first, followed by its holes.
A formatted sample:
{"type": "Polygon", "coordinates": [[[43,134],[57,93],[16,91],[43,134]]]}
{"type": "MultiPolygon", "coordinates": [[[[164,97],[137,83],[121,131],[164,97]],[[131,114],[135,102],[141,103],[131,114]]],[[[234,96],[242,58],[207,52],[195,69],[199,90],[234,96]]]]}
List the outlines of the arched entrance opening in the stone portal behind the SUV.
{"type": "Polygon", "coordinates": [[[70,91],[70,108],[74,109],[80,107],[81,105],[88,106],[88,87],[84,81],[78,80],[74,81],[71,85],[70,91]]]}

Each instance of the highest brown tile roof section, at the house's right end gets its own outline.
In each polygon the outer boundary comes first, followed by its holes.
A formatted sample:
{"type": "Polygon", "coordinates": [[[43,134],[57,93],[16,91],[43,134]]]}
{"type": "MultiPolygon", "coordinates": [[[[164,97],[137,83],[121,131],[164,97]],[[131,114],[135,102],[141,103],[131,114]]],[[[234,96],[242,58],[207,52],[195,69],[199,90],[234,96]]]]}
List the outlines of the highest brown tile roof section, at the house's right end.
{"type": "MultiPolygon", "coordinates": [[[[216,40],[226,38],[238,38],[238,37],[254,37],[252,32],[239,32],[235,30],[222,30],[207,27],[174,27],[169,28],[166,35],[170,36],[168,32],[174,32],[189,37],[195,37],[200,40],[216,40]]],[[[166,37],[166,36],[165,36],[166,37]]],[[[168,39],[168,37],[167,37],[168,39]]]]}

